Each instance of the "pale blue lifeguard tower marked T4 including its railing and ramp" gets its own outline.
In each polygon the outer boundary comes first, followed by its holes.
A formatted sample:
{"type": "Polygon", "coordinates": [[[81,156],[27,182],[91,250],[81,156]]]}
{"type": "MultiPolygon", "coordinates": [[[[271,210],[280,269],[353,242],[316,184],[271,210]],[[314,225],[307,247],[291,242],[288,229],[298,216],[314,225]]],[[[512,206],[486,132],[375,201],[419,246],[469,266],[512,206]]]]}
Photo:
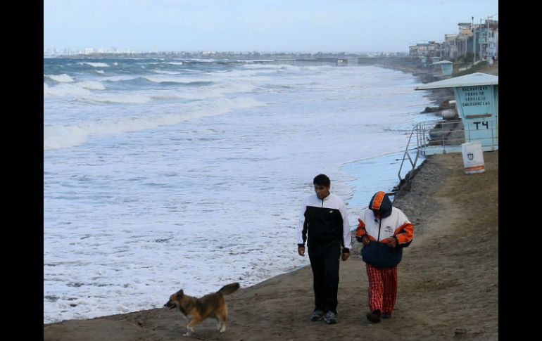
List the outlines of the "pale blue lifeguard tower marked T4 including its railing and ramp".
{"type": "Polygon", "coordinates": [[[498,76],[477,72],[416,86],[415,90],[443,88],[453,88],[460,120],[443,118],[412,128],[399,169],[400,183],[404,181],[401,169],[406,158],[415,169],[420,155],[461,153],[465,142],[479,141],[483,151],[498,150],[498,76]],[[416,136],[416,146],[412,136],[416,136]]]}

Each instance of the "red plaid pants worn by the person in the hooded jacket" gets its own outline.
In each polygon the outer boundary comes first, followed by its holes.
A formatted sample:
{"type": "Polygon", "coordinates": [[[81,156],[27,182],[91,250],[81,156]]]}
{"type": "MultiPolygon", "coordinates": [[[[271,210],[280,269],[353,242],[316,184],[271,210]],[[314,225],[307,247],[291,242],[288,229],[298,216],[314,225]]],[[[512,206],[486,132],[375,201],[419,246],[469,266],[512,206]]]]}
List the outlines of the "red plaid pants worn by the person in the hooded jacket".
{"type": "Polygon", "coordinates": [[[370,311],[391,313],[397,298],[397,266],[378,269],[365,263],[365,267],[369,278],[370,311]]]}

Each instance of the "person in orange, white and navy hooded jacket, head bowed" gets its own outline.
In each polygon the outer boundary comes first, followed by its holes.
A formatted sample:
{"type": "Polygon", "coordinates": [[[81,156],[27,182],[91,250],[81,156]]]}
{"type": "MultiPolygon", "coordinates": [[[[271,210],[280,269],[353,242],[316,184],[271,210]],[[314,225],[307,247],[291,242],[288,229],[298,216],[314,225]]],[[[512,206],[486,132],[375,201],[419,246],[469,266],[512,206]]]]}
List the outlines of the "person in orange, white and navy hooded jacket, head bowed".
{"type": "Polygon", "coordinates": [[[403,247],[412,243],[414,225],[382,191],[374,193],[358,222],[355,239],[363,243],[361,255],[369,279],[367,319],[377,323],[381,317],[391,317],[397,297],[397,265],[403,247]]]}

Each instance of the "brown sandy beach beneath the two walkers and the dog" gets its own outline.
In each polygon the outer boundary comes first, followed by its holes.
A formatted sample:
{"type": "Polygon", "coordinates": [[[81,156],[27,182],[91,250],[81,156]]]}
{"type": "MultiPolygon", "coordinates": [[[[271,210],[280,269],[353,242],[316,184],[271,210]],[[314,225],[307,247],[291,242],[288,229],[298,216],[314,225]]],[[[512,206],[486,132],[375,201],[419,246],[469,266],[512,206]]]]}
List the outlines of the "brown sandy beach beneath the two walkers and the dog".
{"type": "Polygon", "coordinates": [[[484,162],[486,172],[467,175],[460,153],[433,155],[396,196],[415,237],[398,266],[389,320],[365,319],[367,275],[354,239],[341,262],[336,325],[310,321],[312,272],[304,267],[227,297],[222,334],[210,319],[182,337],[181,314],[162,308],[44,324],[44,340],[498,340],[498,151],[484,162]]]}

